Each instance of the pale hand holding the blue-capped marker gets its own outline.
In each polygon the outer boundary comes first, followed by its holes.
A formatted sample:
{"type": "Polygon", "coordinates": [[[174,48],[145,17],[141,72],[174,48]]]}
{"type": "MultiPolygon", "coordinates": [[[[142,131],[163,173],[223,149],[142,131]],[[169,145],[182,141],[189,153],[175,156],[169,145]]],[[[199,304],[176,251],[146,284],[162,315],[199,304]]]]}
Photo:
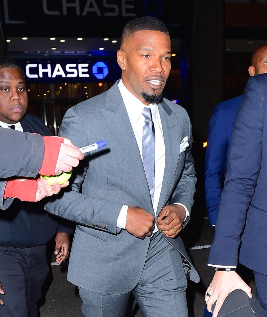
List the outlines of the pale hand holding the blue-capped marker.
{"type": "Polygon", "coordinates": [[[64,143],[60,146],[60,151],[55,167],[55,175],[71,171],[72,167],[79,164],[84,159],[84,154],[73,145],[69,139],[63,138],[64,143]]]}

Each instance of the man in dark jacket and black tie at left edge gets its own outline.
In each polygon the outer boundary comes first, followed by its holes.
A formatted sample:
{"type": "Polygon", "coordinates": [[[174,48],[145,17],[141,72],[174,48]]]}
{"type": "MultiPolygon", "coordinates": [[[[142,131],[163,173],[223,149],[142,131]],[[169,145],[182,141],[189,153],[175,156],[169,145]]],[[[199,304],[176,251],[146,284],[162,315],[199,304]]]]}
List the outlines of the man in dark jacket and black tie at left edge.
{"type": "MultiPolygon", "coordinates": [[[[12,59],[1,58],[0,129],[51,135],[39,118],[26,113],[27,107],[22,69],[12,59]]],[[[61,263],[68,256],[71,228],[47,214],[43,204],[15,199],[8,212],[1,213],[0,232],[0,315],[36,317],[48,273],[46,243],[56,235],[56,262],[61,263]]]]}

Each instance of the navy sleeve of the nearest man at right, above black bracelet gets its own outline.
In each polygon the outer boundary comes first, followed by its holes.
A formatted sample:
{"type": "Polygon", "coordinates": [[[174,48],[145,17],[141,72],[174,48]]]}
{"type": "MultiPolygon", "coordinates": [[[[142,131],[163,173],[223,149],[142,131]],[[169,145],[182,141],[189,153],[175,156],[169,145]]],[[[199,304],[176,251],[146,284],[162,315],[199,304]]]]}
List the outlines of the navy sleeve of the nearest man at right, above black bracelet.
{"type": "Polygon", "coordinates": [[[257,78],[248,80],[233,124],[225,186],[208,263],[237,266],[240,236],[261,168],[263,98],[257,78]]]}

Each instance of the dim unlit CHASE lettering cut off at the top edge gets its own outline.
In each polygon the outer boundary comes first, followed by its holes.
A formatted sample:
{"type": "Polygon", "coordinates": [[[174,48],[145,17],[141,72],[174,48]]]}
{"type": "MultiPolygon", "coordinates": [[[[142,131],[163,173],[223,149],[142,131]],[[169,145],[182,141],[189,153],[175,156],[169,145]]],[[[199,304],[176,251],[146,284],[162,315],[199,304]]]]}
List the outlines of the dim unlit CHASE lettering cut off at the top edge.
{"type": "MultiPolygon", "coordinates": [[[[7,0],[5,0],[7,1],[7,0]]],[[[121,7],[121,16],[136,16],[134,13],[134,0],[102,0],[102,6],[104,11],[101,12],[97,5],[96,0],[87,0],[85,6],[81,6],[80,0],[62,0],[62,10],[55,11],[52,10],[55,7],[55,0],[42,0],[43,12],[47,15],[63,15],[70,16],[73,15],[73,9],[75,8],[76,16],[86,16],[88,14],[93,14],[97,16],[119,16],[121,7]],[[72,2],[69,2],[72,1],[72,2]],[[132,2],[133,4],[129,4],[132,2]]],[[[100,2],[100,1],[99,1],[100,2]]],[[[58,8],[57,9],[61,9],[58,8]]]]}

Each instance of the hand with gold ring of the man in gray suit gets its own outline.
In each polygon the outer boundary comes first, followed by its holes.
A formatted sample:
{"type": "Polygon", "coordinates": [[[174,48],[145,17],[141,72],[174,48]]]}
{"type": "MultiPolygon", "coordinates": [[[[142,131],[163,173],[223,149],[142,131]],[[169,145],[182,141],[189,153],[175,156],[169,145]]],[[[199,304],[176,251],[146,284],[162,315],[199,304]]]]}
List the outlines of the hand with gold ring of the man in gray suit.
{"type": "Polygon", "coordinates": [[[165,206],[157,219],[158,229],[168,238],[174,238],[183,228],[186,210],[183,206],[172,204],[165,206]]]}

